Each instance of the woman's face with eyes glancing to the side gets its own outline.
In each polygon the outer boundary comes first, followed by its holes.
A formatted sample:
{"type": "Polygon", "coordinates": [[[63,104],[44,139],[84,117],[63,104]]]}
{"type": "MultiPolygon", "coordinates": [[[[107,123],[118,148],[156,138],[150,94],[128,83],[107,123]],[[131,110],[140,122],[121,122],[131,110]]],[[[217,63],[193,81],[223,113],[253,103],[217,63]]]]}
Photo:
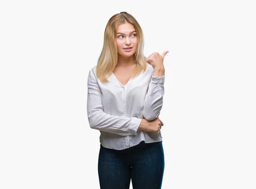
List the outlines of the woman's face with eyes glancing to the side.
{"type": "Polygon", "coordinates": [[[132,56],[137,51],[137,33],[132,24],[124,23],[117,27],[116,45],[119,56],[132,56]]]}

